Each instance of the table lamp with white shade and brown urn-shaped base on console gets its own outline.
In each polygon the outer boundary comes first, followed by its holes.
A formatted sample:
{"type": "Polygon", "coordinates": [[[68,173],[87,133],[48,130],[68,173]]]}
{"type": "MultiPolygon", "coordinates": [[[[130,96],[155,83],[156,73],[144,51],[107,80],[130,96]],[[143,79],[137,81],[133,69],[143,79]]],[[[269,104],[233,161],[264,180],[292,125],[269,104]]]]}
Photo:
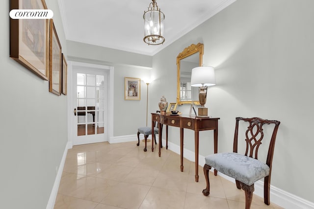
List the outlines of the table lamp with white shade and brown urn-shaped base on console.
{"type": "Polygon", "coordinates": [[[199,101],[201,107],[198,108],[198,116],[208,116],[208,108],[204,105],[207,97],[207,87],[216,85],[215,71],[213,67],[201,66],[192,69],[191,86],[200,87],[199,101]]]}

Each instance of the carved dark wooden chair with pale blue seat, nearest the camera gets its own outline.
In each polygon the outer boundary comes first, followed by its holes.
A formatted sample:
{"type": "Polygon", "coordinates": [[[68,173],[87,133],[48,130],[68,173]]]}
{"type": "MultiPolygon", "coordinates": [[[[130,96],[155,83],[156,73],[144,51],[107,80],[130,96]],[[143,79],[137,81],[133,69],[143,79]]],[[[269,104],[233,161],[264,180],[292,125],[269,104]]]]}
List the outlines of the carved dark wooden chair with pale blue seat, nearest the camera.
{"type": "Polygon", "coordinates": [[[275,140],[280,121],[264,120],[259,117],[235,118],[235,138],[233,153],[217,153],[205,157],[204,175],[206,179],[206,189],[203,190],[205,196],[209,195],[209,170],[211,167],[219,172],[235,179],[238,189],[245,192],[245,209],[250,209],[254,183],[264,178],[264,203],[270,204],[269,190],[271,177],[271,164],[273,160],[275,140]],[[245,132],[246,151],[244,155],[237,153],[239,121],[249,123],[245,132]],[[264,137],[263,125],[274,124],[274,129],[270,139],[266,163],[258,160],[258,150],[264,137]]]}

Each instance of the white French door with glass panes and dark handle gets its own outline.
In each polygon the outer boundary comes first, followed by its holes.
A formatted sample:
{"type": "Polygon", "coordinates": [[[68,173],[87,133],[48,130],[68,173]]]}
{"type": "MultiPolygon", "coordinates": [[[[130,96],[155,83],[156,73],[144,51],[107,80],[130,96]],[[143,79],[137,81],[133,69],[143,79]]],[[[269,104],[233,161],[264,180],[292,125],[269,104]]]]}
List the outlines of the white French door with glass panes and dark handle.
{"type": "Polygon", "coordinates": [[[108,74],[73,69],[73,145],[108,141],[108,74]]]}

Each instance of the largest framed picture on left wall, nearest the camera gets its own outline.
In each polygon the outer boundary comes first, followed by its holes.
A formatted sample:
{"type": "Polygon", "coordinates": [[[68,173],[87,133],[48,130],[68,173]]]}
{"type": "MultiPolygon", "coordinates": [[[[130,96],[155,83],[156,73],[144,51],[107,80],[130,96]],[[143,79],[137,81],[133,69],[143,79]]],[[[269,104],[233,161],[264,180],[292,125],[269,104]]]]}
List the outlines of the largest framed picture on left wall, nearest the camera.
{"type": "MultiPolygon", "coordinates": [[[[12,9],[47,9],[45,0],[11,0],[12,9]]],[[[10,57],[49,80],[49,20],[10,19],[10,57]]]]}

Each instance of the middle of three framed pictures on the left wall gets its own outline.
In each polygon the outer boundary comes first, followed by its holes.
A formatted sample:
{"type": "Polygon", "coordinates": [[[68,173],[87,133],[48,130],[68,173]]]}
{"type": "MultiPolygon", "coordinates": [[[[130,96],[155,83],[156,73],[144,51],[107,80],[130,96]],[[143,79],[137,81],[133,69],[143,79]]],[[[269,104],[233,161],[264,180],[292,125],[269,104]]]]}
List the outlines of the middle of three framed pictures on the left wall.
{"type": "Polygon", "coordinates": [[[61,95],[62,52],[52,19],[50,20],[49,49],[49,92],[61,95]]]}

